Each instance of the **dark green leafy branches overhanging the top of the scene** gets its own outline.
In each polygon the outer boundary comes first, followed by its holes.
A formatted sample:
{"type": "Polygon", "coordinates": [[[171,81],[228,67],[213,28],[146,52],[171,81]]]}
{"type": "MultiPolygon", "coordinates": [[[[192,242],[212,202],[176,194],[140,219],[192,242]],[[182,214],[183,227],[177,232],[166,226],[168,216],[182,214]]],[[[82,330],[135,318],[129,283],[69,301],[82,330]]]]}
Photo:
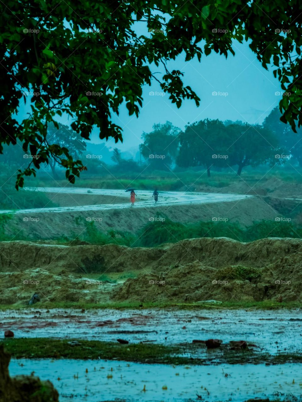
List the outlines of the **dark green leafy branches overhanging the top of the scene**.
{"type": "MultiPolygon", "coordinates": [[[[112,122],[126,104],[139,115],[142,87],[158,81],[172,103],[199,97],[182,82],[182,72],[167,62],[181,53],[186,61],[215,51],[234,55],[233,42],[249,41],[264,68],[273,64],[286,91],[280,101],[283,122],[295,129],[302,122],[302,27],[297,0],[215,0],[205,2],[95,0],[8,0],[0,3],[0,144],[19,139],[32,158],[17,176],[35,174],[41,163],[57,158],[74,182],[83,164],[64,147],[45,141],[48,123],[62,113],[74,118],[72,129],[89,139],[93,125],[100,138],[122,140],[112,122]],[[136,24],[145,27],[138,35],[136,24]],[[283,30],[283,31],[282,31],[283,30]],[[151,65],[163,65],[163,76],[151,65]],[[24,91],[32,93],[23,96],[24,91]],[[29,99],[31,113],[17,119],[21,102],[29,99]]],[[[54,123],[56,124],[56,123],[54,123]]],[[[58,128],[58,126],[57,126],[58,128]]],[[[2,145],[0,146],[2,152],[2,145]]]]}

